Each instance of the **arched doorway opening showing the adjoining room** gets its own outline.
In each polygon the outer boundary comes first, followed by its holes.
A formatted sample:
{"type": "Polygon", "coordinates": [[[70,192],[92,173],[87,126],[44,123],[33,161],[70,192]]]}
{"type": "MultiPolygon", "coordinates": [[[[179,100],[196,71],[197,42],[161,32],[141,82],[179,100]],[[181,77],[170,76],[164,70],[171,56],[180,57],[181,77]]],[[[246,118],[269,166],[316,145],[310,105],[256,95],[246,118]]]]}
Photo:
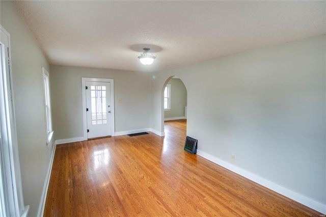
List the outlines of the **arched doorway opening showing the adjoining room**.
{"type": "Polygon", "coordinates": [[[171,76],[166,80],[162,88],[162,104],[165,134],[168,130],[166,129],[166,123],[169,124],[169,129],[171,125],[174,125],[185,131],[187,118],[187,90],[179,77],[171,76]]]}

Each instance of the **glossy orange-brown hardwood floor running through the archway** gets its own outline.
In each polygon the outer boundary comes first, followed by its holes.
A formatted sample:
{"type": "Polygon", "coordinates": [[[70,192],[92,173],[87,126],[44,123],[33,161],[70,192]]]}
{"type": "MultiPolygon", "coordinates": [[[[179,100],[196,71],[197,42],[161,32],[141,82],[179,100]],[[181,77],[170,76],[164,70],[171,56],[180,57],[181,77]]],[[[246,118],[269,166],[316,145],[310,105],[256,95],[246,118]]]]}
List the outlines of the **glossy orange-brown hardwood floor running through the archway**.
{"type": "Polygon", "coordinates": [[[58,145],[44,216],[320,216],[183,151],[185,120],[148,135],[58,145]]]}

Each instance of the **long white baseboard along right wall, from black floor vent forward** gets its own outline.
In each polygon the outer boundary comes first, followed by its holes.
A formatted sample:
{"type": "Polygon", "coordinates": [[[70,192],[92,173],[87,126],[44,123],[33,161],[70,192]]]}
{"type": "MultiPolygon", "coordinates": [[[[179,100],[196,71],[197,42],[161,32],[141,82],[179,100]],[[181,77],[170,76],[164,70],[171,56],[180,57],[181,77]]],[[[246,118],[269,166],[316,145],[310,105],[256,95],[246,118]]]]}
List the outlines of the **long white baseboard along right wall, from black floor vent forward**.
{"type": "Polygon", "coordinates": [[[292,200],[294,200],[294,201],[296,201],[298,203],[301,203],[301,204],[303,204],[305,206],[308,206],[308,207],[310,207],[310,208],[312,208],[314,210],[317,210],[318,212],[326,214],[326,205],[325,204],[322,204],[322,203],[320,203],[318,201],[315,201],[315,200],[313,200],[311,198],[308,198],[306,196],[303,196],[301,194],[293,192],[288,188],[280,186],[280,185],[278,185],[278,184],[276,184],[274,182],[268,181],[268,180],[266,180],[266,179],[264,179],[264,178],[262,178],[260,176],[257,176],[256,174],[251,173],[251,172],[249,172],[247,170],[236,167],[236,166],[234,166],[234,165],[232,165],[232,164],[230,164],[230,163],[228,163],[228,162],[226,162],[224,160],[221,160],[221,159],[219,159],[217,157],[214,157],[214,156],[212,156],[210,154],[207,154],[206,152],[197,150],[197,154],[199,156],[202,156],[202,157],[214,162],[215,164],[218,164],[218,165],[220,165],[220,166],[222,166],[222,167],[224,167],[224,168],[226,168],[226,169],[228,169],[228,170],[230,170],[230,171],[232,171],[234,173],[239,174],[240,176],[243,176],[243,177],[245,177],[247,179],[250,179],[250,180],[264,186],[264,187],[267,187],[267,188],[271,189],[274,192],[277,192],[277,193],[279,193],[279,194],[281,194],[281,195],[283,195],[285,197],[288,197],[288,198],[290,198],[290,199],[292,199],[292,200]]]}

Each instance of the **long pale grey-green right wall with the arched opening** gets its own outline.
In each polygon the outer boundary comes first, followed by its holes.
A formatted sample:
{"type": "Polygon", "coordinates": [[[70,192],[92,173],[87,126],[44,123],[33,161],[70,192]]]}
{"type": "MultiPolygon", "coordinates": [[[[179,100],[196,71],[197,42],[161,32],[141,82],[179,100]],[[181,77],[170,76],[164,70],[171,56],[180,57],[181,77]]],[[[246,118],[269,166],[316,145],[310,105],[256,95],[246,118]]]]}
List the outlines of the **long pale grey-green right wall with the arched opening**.
{"type": "Polygon", "coordinates": [[[201,153],[326,204],[324,35],[153,73],[160,132],[173,75],[187,89],[187,135],[201,153]]]}

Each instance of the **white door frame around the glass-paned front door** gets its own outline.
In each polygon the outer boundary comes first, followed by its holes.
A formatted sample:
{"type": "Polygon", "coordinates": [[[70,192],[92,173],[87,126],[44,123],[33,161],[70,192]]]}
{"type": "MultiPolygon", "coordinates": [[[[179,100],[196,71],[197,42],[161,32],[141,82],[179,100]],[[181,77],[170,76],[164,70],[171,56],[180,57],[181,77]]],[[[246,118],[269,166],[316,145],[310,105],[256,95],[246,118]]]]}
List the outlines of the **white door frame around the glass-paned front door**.
{"type": "Polygon", "coordinates": [[[86,112],[86,82],[110,82],[110,98],[111,98],[111,136],[115,135],[115,111],[114,111],[114,79],[111,78],[96,78],[82,77],[82,96],[83,96],[83,132],[84,140],[87,137],[87,112],[86,112]]]}

